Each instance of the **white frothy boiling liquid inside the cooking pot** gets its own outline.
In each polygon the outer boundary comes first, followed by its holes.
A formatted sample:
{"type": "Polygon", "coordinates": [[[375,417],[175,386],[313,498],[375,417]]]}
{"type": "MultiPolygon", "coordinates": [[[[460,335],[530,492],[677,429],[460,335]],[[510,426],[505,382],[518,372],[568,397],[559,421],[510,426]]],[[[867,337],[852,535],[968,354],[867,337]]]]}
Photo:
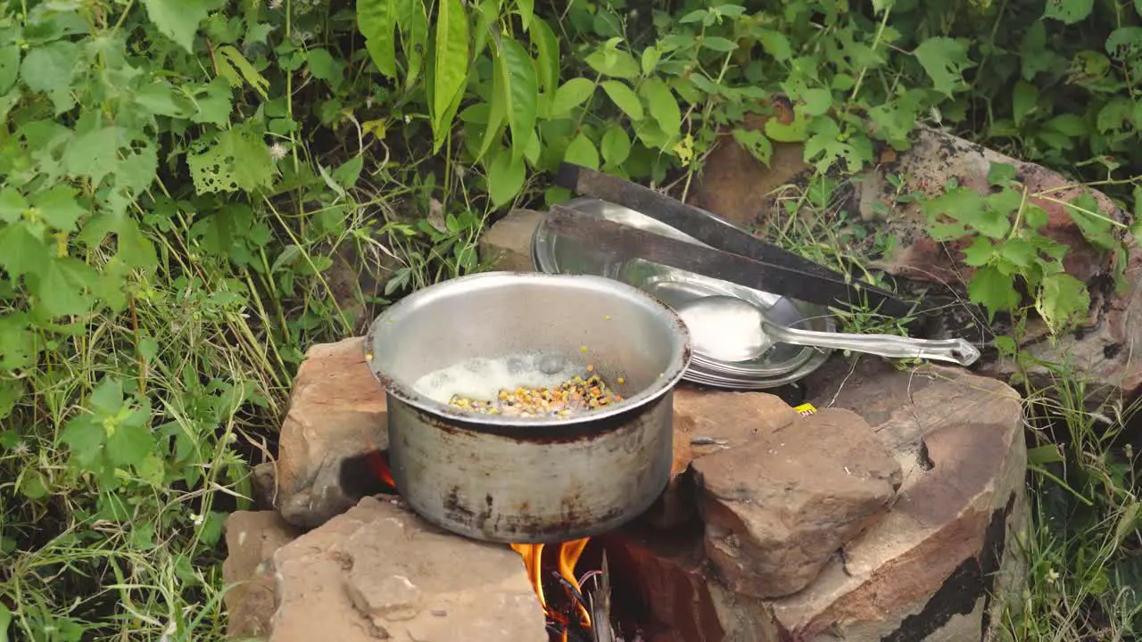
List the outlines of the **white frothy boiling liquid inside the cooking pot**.
{"type": "Polygon", "coordinates": [[[428,372],[412,384],[416,392],[448,403],[453,396],[493,400],[501,390],[553,387],[585,375],[586,366],[561,354],[524,352],[485,359],[476,356],[428,372]]]}

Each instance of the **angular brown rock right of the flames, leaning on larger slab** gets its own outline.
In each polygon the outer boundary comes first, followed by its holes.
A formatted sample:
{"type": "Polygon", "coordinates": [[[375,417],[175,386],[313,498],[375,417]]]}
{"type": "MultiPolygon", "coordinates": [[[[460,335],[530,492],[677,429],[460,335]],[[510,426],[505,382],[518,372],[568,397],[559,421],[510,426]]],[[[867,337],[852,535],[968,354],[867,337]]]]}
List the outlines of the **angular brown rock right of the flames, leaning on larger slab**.
{"type": "Polygon", "coordinates": [[[888,511],[900,464],[859,416],[822,410],[693,463],[706,552],[735,593],[789,595],[888,511]]]}

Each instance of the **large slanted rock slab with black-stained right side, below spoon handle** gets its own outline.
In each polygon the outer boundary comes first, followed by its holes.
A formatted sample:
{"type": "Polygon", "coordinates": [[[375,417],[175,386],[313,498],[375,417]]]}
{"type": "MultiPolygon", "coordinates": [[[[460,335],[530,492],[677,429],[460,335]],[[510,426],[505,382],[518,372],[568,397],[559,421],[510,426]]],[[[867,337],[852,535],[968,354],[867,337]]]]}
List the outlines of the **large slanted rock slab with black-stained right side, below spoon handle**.
{"type": "Polygon", "coordinates": [[[818,407],[861,412],[903,465],[903,484],[888,515],[811,587],[774,602],[778,620],[803,640],[837,629],[844,640],[990,636],[1023,576],[1019,395],[959,369],[898,371],[872,360],[833,380],[818,407]]]}

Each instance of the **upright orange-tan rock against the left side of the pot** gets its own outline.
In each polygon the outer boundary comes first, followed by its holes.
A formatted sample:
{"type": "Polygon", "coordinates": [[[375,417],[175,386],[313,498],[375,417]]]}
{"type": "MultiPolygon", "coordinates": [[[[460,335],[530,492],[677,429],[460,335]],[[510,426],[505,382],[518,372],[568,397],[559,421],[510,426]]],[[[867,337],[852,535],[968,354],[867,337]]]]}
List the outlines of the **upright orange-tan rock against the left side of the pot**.
{"type": "Polygon", "coordinates": [[[357,463],[388,447],[386,420],[385,392],[365,364],[362,338],[309,348],[279,441],[276,505],[286,521],[313,528],[378,492],[380,482],[370,485],[357,463]]]}

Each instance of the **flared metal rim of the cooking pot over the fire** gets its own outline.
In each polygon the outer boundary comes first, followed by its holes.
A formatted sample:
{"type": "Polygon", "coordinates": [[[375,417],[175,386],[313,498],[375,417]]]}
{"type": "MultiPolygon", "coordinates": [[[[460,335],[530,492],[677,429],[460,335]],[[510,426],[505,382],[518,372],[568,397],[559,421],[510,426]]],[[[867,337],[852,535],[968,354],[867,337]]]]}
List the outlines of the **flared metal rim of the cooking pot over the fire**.
{"type": "Polygon", "coordinates": [[[589,274],[545,274],[541,272],[510,272],[510,271],[497,271],[497,272],[481,272],[478,274],[468,274],[465,276],[458,276],[456,279],[449,279],[447,281],[441,281],[434,286],[427,288],[421,288],[401,300],[388,306],[384,312],[381,312],[373,322],[369,326],[369,331],[364,337],[364,358],[365,363],[369,366],[369,371],[372,372],[375,379],[380,383],[385,392],[396,398],[397,400],[412,406],[419,410],[428,412],[431,415],[447,418],[450,420],[460,422],[468,424],[474,428],[481,426],[498,426],[498,427],[521,427],[521,428],[537,428],[537,427],[558,427],[558,426],[580,426],[582,424],[594,424],[602,419],[616,417],[637,410],[646,404],[653,403],[658,399],[661,399],[665,394],[673,391],[677,386],[678,382],[682,380],[683,376],[686,374],[690,367],[691,356],[691,343],[690,343],[690,330],[686,328],[685,322],[681,316],[668,305],[657,299],[654,296],[629,286],[621,281],[616,281],[614,279],[608,279],[605,276],[595,276],[589,274]],[[455,288],[464,283],[469,283],[476,280],[483,279],[504,279],[513,278],[520,280],[530,281],[582,281],[582,282],[596,282],[605,284],[608,288],[616,290],[621,294],[626,294],[633,298],[642,299],[650,303],[653,307],[661,311],[664,316],[674,323],[676,331],[679,332],[682,337],[681,350],[676,351],[670,355],[670,362],[667,368],[659,376],[659,384],[652,385],[648,388],[640,391],[637,394],[624,399],[621,402],[614,406],[608,407],[603,410],[593,410],[590,412],[585,412],[577,417],[570,418],[557,418],[557,417],[504,417],[501,415],[481,415],[476,412],[465,412],[464,410],[452,408],[447,403],[441,403],[428,399],[427,396],[416,392],[412,386],[399,378],[383,371],[377,364],[375,342],[376,334],[381,323],[389,322],[394,316],[400,315],[405,308],[411,307],[418,300],[428,297],[436,296],[442,287],[455,288]]]}

